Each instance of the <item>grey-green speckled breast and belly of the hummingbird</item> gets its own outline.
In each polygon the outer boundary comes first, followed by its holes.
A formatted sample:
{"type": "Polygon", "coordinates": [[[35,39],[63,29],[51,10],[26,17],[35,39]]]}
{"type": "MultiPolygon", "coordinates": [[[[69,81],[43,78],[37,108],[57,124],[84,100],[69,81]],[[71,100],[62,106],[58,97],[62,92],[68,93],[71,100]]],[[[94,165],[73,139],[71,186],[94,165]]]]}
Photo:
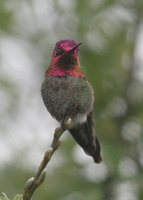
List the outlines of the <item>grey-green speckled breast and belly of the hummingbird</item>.
{"type": "Polygon", "coordinates": [[[78,113],[88,114],[93,107],[93,90],[79,77],[47,77],[41,94],[47,110],[59,122],[78,113]]]}

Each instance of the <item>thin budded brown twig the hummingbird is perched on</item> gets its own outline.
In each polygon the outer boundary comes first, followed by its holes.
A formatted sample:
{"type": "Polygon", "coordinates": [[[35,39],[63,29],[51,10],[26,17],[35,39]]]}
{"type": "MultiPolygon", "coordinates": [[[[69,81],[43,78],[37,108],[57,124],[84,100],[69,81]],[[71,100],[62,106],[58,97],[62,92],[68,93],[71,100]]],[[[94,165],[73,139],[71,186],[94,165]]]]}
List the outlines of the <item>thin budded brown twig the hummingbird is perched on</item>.
{"type": "Polygon", "coordinates": [[[63,132],[67,129],[68,124],[65,124],[64,129],[59,127],[55,129],[51,148],[45,152],[44,158],[38,168],[35,177],[31,177],[25,184],[23,200],[30,200],[35,190],[43,183],[46,177],[46,166],[51,160],[52,155],[60,146],[60,137],[63,132]]]}

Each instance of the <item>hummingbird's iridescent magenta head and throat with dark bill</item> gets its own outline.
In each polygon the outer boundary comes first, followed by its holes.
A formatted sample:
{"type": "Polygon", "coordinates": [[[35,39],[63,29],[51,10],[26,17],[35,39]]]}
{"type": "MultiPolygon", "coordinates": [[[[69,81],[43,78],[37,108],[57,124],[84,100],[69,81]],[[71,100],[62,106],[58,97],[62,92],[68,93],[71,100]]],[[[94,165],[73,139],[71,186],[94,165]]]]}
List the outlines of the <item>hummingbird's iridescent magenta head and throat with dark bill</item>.
{"type": "Polygon", "coordinates": [[[75,76],[84,77],[80,69],[78,57],[79,46],[74,40],[60,40],[52,53],[52,60],[46,71],[46,76],[75,76]]]}

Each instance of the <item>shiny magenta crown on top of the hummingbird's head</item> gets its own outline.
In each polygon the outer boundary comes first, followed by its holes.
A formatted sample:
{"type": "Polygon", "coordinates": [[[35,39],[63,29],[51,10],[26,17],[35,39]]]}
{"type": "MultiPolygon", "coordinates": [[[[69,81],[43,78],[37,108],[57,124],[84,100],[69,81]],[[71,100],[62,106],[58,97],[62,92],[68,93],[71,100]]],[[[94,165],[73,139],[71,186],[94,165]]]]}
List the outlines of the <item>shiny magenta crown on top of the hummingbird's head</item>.
{"type": "MultiPolygon", "coordinates": [[[[63,51],[69,51],[77,45],[78,45],[78,43],[76,43],[74,40],[69,40],[69,39],[60,40],[56,43],[55,48],[54,48],[54,52],[57,51],[57,49],[63,50],[63,51]]],[[[79,47],[77,47],[75,49],[76,53],[78,53],[78,51],[79,51],[79,47]]]]}

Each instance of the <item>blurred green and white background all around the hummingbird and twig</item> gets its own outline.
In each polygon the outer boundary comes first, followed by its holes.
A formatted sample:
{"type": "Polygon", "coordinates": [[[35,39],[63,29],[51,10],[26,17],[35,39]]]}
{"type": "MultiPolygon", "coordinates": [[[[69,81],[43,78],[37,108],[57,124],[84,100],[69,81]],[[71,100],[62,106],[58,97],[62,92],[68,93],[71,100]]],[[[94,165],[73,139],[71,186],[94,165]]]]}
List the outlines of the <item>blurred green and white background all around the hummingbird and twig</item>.
{"type": "Polygon", "coordinates": [[[142,22],[142,0],[0,0],[0,192],[22,193],[50,144],[52,129],[44,147],[41,135],[57,124],[40,87],[55,43],[71,38],[82,42],[81,66],[95,89],[103,162],[94,164],[65,133],[33,199],[143,199],[142,22]]]}

